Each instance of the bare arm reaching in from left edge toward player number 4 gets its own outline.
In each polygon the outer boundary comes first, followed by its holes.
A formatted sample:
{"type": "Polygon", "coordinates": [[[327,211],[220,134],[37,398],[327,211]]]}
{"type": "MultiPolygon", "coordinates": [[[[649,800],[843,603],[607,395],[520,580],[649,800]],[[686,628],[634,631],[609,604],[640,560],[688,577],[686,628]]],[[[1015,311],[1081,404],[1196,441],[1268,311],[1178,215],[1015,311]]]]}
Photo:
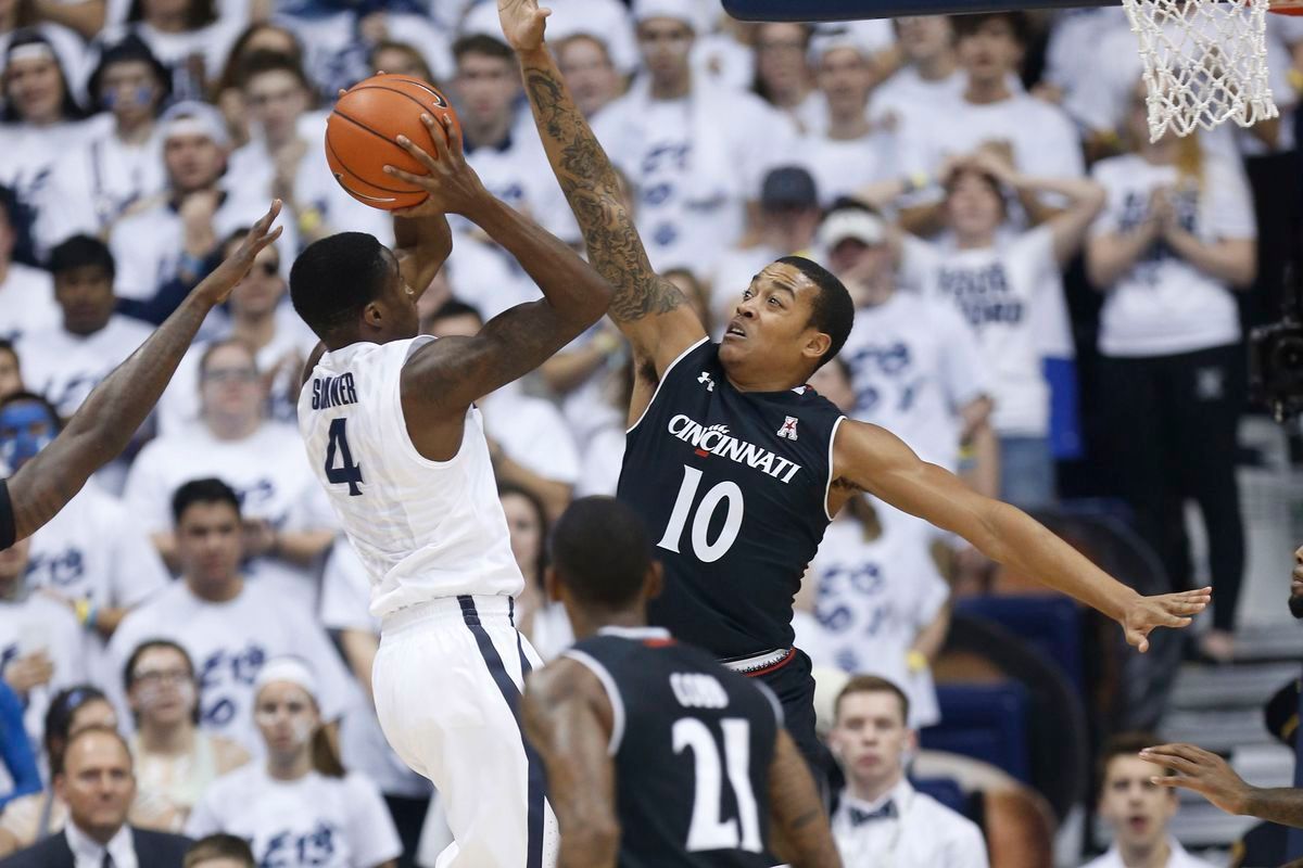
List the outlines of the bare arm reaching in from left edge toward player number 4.
{"type": "Polygon", "coordinates": [[[240,249],[95,387],[55,441],[13,475],[9,498],[16,539],[35,534],[81,491],[93,472],[122,453],[158,403],[205,318],[244,280],[258,251],[280,237],[280,228],[271,228],[278,213],[279,200],[253,225],[240,249]]]}

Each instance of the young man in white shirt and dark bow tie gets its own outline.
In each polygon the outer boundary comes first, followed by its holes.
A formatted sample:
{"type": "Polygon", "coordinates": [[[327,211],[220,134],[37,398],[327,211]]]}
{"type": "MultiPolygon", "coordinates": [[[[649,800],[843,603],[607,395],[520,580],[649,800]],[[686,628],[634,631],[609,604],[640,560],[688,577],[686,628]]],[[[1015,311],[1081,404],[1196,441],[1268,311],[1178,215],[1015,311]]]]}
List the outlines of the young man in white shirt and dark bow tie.
{"type": "Polygon", "coordinates": [[[981,829],[906,778],[906,755],[917,748],[908,717],[900,688],[874,675],[852,678],[837,698],[829,747],[846,773],[833,813],[842,861],[986,868],[981,829]]]}

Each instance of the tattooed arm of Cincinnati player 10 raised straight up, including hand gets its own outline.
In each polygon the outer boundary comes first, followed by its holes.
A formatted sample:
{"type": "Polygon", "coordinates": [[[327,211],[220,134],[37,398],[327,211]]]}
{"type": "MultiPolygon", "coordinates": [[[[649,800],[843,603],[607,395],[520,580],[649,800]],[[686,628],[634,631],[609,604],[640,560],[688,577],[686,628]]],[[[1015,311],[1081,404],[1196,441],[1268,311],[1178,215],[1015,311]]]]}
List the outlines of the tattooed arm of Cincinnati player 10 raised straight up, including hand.
{"type": "Polygon", "coordinates": [[[635,355],[650,362],[659,379],[706,331],[678,286],[652,271],[615,167],[543,44],[547,10],[539,9],[537,0],[499,0],[498,12],[503,34],[520,59],[547,161],[584,233],[589,262],[615,289],[611,319],[633,345],[635,355]]]}

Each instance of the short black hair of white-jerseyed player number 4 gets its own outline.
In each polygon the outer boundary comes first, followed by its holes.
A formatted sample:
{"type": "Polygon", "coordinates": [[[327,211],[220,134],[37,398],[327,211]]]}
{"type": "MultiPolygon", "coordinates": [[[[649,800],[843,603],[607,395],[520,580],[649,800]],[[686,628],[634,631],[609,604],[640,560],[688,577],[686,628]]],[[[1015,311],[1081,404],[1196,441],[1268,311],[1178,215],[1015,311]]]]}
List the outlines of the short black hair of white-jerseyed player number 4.
{"type": "Polygon", "coordinates": [[[289,269],[289,301],[317,337],[348,328],[375,301],[391,275],[374,236],[341,232],[308,245],[289,269]]]}

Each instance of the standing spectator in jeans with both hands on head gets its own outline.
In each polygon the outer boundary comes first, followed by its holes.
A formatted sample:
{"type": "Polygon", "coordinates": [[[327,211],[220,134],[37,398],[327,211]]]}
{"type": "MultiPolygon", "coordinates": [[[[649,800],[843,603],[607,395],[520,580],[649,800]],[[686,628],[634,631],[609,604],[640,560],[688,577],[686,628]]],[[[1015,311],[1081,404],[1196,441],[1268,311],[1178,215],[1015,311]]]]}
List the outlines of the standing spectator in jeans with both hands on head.
{"type": "Polygon", "coordinates": [[[906,237],[900,278],[954,305],[977,336],[993,375],[999,498],[1023,509],[1048,506],[1057,496],[1046,357],[1058,364],[1072,357],[1061,275],[1104,207],[1104,189],[1087,178],[1031,177],[989,151],[956,164],[945,186],[954,247],[906,237]],[[1040,193],[1066,199],[1065,210],[1028,232],[1011,230],[1006,194],[1040,193]],[[1050,354],[1044,347],[1054,333],[1061,345],[1050,354]]]}

